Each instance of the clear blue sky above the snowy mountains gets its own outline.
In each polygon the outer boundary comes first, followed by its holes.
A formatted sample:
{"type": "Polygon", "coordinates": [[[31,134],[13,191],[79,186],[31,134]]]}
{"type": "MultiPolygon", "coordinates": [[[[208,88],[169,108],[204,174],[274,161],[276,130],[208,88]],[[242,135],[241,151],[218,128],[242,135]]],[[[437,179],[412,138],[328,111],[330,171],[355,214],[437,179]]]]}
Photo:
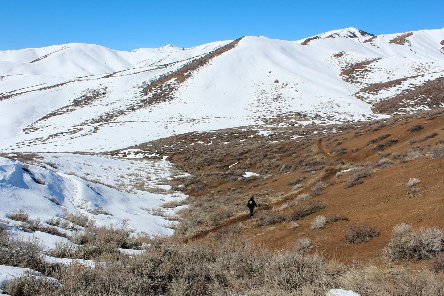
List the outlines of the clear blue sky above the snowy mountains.
{"type": "Polygon", "coordinates": [[[0,50],[71,42],[192,47],[246,35],[297,40],[346,27],[388,34],[443,28],[443,12],[444,0],[2,0],[0,50]]]}

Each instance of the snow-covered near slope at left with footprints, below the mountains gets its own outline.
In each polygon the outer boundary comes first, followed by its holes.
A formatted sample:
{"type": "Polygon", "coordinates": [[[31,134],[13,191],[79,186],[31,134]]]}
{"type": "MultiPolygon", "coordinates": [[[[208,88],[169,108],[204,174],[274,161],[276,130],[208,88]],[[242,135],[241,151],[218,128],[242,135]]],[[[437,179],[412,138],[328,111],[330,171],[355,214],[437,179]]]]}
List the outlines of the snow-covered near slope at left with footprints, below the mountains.
{"type": "MultiPolygon", "coordinates": [[[[36,165],[0,158],[0,219],[8,221],[10,227],[19,223],[9,219],[11,210],[26,210],[31,219],[40,219],[42,223],[61,217],[67,210],[94,216],[97,225],[125,226],[133,232],[151,235],[174,232],[163,226],[170,221],[153,215],[151,209],[159,208],[165,201],[182,200],[186,195],[149,192],[170,188],[159,185],[170,179],[172,165],[169,162],[84,154],[41,156],[43,159],[37,159],[36,165]],[[97,208],[108,214],[96,213],[97,208]]],[[[163,211],[165,216],[174,216],[177,209],[180,207],[163,211]]],[[[52,234],[26,233],[14,227],[11,232],[25,239],[39,237],[46,246],[63,240],[52,234]]]]}

